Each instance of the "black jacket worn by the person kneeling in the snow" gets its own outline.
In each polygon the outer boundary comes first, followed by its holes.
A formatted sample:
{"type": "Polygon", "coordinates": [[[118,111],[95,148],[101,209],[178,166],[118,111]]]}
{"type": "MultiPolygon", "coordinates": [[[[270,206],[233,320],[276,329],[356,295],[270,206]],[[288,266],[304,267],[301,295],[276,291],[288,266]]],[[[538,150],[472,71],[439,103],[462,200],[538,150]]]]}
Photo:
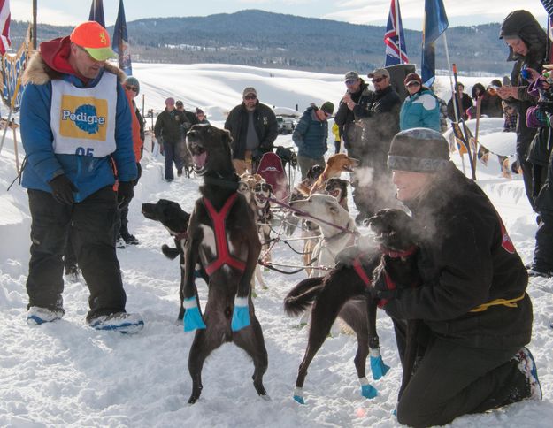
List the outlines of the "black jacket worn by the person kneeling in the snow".
{"type": "Polygon", "coordinates": [[[449,164],[419,201],[408,203],[420,238],[423,284],[385,306],[389,315],[422,319],[434,334],[473,348],[523,346],[532,334],[528,276],[484,192],[449,164]],[[495,299],[524,298],[516,308],[495,299]]]}

